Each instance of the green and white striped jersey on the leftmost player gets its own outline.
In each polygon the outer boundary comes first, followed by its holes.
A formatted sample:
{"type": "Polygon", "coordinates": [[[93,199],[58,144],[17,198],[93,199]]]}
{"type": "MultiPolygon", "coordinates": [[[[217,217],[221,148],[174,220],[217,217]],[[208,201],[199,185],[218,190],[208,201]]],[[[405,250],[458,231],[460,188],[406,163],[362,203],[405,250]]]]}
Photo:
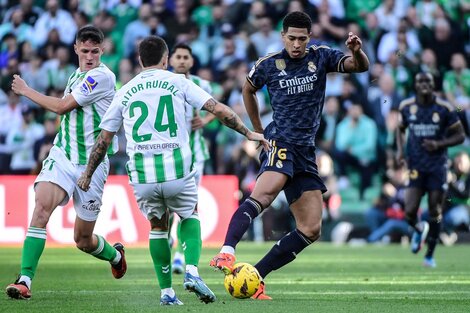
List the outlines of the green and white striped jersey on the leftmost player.
{"type": "MultiPolygon", "coordinates": [[[[60,117],[60,129],[54,144],[72,163],[88,163],[95,139],[101,131],[101,119],[116,92],[115,84],[116,76],[103,63],[86,72],[78,68],[69,77],[64,98],[72,94],[79,107],[60,117]]],[[[114,138],[108,154],[117,149],[117,138],[114,138]]]]}

